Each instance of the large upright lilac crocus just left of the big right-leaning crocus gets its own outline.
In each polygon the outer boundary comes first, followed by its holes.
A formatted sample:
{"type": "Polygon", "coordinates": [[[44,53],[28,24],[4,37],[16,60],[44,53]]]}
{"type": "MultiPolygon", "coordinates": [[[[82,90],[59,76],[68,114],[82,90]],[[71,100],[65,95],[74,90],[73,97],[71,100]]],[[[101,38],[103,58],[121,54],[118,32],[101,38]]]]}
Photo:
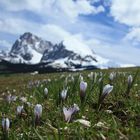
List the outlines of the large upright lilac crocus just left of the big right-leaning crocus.
{"type": "Polygon", "coordinates": [[[86,89],[87,89],[87,83],[84,81],[80,82],[80,98],[81,98],[81,103],[84,101],[85,96],[86,96],[86,89]]]}

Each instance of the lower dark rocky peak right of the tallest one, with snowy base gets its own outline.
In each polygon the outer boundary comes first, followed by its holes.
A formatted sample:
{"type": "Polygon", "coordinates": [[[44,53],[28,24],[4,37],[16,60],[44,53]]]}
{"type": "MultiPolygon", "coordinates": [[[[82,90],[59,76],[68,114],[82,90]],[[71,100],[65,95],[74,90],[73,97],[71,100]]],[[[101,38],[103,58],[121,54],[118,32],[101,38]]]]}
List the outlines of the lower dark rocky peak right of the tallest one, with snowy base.
{"type": "Polygon", "coordinates": [[[41,62],[52,62],[53,67],[75,67],[83,63],[97,62],[97,60],[90,56],[81,56],[71,50],[67,50],[63,42],[53,46],[53,49],[46,50],[43,54],[41,62]]]}

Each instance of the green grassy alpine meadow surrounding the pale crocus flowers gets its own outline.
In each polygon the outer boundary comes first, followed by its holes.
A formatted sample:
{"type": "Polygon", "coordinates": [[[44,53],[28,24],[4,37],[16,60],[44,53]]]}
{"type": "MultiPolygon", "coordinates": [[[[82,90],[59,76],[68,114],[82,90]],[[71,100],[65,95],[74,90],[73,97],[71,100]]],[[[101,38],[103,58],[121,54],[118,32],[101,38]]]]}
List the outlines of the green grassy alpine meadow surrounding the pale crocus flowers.
{"type": "MultiPolygon", "coordinates": [[[[11,121],[8,132],[10,140],[16,139],[135,139],[140,137],[140,72],[138,68],[112,69],[93,71],[93,78],[88,77],[91,71],[78,73],[53,74],[13,74],[0,76],[0,121],[7,117],[11,121]],[[109,80],[111,72],[115,73],[113,81],[109,80]],[[88,83],[86,99],[83,104],[79,96],[79,75],[88,83]],[[95,73],[97,77],[95,79],[95,73]],[[128,92],[128,76],[134,81],[128,92]],[[72,78],[73,77],[73,78],[72,78]],[[100,78],[103,81],[100,84],[100,78]],[[32,81],[32,83],[29,81],[32,81]],[[112,84],[112,92],[105,98],[100,109],[98,98],[106,84],[112,84]],[[48,96],[44,97],[44,88],[48,88],[48,96]],[[59,93],[68,87],[67,98],[60,100],[59,93]],[[15,90],[14,90],[15,89],[15,90]],[[16,95],[14,102],[8,103],[6,97],[16,95]],[[20,97],[26,97],[28,106],[20,97]],[[43,107],[41,122],[34,126],[34,106],[43,107]],[[63,106],[70,107],[76,103],[80,111],[69,123],[65,122],[63,106]],[[16,115],[16,108],[24,105],[24,114],[16,115]],[[85,119],[91,123],[87,127],[77,119],[85,119]]],[[[3,131],[0,126],[0,139],[3,131]]]]}

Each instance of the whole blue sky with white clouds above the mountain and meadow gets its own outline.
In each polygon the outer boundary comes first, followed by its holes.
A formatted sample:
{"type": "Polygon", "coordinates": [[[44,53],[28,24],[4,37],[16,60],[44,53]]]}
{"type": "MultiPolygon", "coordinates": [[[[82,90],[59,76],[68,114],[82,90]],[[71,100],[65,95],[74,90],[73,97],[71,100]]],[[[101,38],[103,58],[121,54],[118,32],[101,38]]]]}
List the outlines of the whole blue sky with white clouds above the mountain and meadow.
{"type": "Polygon", "coordinates": [[[53,43],[75,38],[102,57],[140,66],[139,5],[139,0],[2,0],[0,50],[32,32],[53,43]]]}

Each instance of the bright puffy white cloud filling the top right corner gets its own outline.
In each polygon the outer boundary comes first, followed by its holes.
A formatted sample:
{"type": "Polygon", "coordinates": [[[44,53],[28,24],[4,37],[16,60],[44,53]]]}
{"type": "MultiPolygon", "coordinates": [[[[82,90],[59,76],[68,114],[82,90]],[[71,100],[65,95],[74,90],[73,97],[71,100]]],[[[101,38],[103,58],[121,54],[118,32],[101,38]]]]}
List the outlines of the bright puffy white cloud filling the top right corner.
{"type": "Polygon", "coordinates": [[[140,26],[140,0],[112,0],[111,15],[128,26],[140,26]]]}

